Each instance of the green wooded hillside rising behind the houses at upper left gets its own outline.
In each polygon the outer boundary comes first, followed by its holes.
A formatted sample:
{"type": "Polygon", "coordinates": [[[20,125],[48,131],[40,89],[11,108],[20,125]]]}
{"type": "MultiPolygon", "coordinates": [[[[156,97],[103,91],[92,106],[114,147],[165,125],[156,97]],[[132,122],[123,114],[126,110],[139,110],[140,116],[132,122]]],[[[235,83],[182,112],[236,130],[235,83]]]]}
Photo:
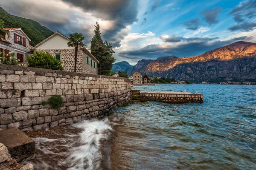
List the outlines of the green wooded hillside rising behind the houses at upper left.
{"type": "Polygon", "coordinates": [[[39,42],[53,34],[51,30],[42,26],[40,23],[11,15],[2,7],[0,7],[0,19],[4,21],[5,28],[21,28],[31,39],[30,45],[32,46],[37,45],[39,42]]]}

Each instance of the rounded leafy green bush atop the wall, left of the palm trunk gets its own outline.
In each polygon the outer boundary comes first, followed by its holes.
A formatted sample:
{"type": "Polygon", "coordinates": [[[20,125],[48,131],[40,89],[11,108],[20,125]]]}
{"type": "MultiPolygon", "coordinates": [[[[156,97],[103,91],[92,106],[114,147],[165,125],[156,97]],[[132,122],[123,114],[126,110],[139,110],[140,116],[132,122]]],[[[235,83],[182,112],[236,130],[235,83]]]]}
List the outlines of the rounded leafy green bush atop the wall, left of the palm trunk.
{"type": "Polygon", "coordinates": [[[34,51],[33,55],[26,57],[26,60],[28,62],[28,67],[64,70],[62,62],[48,52],[34,51]]]}

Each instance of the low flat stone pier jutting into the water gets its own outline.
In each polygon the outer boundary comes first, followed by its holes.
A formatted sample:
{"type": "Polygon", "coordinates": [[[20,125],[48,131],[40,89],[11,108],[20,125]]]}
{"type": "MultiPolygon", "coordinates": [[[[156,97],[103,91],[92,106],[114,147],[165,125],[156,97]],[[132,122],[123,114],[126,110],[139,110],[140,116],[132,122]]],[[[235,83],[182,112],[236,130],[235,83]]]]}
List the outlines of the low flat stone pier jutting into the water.
{"type": "Polygon", "coordinates": [[[148,101],[148,100],[158,101],[158,102],[168,102],[168,103],[183,103],[183,102],[203,103],[204,95],[187,93],[187,92],[140,91],[140,101],[148,101]]]}

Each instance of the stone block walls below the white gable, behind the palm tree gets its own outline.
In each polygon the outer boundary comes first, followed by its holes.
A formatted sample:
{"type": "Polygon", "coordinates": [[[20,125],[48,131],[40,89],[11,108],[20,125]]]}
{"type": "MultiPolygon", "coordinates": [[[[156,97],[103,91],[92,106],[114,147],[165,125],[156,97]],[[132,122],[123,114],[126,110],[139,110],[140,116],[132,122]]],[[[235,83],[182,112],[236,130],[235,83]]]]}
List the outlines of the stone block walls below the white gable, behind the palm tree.
{"type": "MultiPolygon", "coordinates": [[[[60,54],[61,61],[64,67],[64,71],[74,71],[75,67],[75,49],[56,49],[56,50],[38,50],[49,52],[53,56],[56,54],[60,54]]],[[[76,72],[77,73],[84,73],[84,74],[97,74],[97,62],[95,62],[95,68],[90,66],[90,55],[86,54],[82,49],[79,49],[77,54],[77,65],[76,65],[76,72]],[[86,62],[86,56],[89,57],[89,65],[86,62]]]]}

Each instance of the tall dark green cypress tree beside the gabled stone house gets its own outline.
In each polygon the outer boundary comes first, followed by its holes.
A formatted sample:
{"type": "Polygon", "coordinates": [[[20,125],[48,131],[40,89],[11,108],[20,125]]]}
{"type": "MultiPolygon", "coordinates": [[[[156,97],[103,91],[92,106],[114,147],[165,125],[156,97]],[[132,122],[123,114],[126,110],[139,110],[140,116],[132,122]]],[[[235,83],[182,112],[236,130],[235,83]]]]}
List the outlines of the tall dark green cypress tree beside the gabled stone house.
{"type": "Polygon", "coordinates": [[[115,58],[112,44],[107,41],[103,42],[101,38],[99,23],[96,22],[94,37],[91,40],[91,54],[99,60],[98,74],[109,75],[115,58]]]}

